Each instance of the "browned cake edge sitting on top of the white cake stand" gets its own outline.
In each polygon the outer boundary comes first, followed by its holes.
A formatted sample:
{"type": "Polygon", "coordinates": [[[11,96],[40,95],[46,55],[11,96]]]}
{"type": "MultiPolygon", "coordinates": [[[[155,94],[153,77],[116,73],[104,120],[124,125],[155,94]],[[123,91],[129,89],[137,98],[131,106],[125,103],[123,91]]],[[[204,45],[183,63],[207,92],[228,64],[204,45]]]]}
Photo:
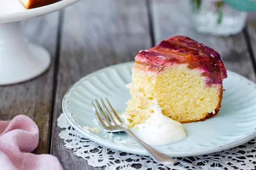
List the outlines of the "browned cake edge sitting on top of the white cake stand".
{"type": "Polygon", "coordinates": [[[55,3],[59,0],[20,0],[26,9],[32,9],[35,7],[42,7],[44,5],[49,5],[55,3]]]}

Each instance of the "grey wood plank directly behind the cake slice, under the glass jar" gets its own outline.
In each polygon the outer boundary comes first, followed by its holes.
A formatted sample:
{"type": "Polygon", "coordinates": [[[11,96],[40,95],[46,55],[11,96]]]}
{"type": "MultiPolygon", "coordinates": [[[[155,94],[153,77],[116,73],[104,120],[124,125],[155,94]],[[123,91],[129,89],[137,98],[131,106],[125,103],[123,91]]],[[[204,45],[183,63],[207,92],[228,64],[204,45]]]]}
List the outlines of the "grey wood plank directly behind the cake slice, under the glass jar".
{"type": "Polygon", "coordinates": [[[189,36],[217,50],[226,69],[255,81],[255,73],[242,33],[226,38],[197,33],[189,21],[189,1],[153,0],[152,13],[156,43],[178,34],[189,36]]]}

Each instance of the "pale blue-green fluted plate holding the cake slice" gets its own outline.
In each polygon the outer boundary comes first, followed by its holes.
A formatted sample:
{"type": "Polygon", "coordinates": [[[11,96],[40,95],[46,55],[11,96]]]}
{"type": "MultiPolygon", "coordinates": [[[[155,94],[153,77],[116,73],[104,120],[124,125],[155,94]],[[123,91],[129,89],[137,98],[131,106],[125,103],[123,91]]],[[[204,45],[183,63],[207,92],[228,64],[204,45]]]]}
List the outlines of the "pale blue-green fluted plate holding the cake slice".
{"type": "MultiPolygon", "coordinates": [[[[96,127],[91,101],[108,97],[118,112],[124,112],[131,81],[133,62],[107,67],[80,79],[70,87],[63,98],[63,112],[73,128],[108,148],[148,155],[125,133],[110,135],[89,132],[82,126],[96,127]]],[[[183,124],[187,138],[181,142],[156,146],[171,157],[187,157],[223,151],[256,137],[256,85],[231,71],[224,80],[224,97],[218,116],[203,122],[183,124]]],[[[154,135],[154,134],[153,134],[154,135]]]]}

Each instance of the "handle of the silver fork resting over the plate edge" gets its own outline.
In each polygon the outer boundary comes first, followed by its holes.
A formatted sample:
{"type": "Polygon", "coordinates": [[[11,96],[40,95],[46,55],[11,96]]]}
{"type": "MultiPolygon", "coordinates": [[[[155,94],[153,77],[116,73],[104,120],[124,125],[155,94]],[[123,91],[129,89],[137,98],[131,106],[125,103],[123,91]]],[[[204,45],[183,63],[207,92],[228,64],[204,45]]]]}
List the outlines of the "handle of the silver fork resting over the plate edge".
{"type": "Polygon", "coordinates": [[[162,163],[164,165],[175,165],[177,164],[177,160],[175,159],[171,159],[170,157],[168,157],[167,155],[164,155],[163,153],[160,153],[159,151],[157,151],[155,148],[153,148],[152,146],[146,144],[146,142],[143,142],[142,140],[140,140],[137,136],[135,136],[135,134],[133,134],[133,132],[131,132],[131,130],[126,129],[125,132],[127,132],[127,134],[129,134],[133,139],[135,139],[141,146],[143,146],[143,148],[146,149],[146,151],[148,151],[148,153],[150,154],[150,156],[158,163],[162,163]]]}

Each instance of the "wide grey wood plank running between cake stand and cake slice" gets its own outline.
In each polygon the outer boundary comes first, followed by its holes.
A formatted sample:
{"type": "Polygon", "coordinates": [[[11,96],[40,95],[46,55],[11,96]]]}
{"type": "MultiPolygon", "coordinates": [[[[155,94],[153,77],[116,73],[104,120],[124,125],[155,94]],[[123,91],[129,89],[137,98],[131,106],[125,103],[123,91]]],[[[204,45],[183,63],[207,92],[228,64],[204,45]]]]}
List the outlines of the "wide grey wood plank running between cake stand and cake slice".
{"type": "Polygon", "coordinates": [[[55,102],[52,153],[64,169],[102,169],[88,166],[63,146],[57,118],[65,91],[75,81],[103,67],[134,60],[150,48],[146,1],[80,1],[65,9],[55,102]]]}

